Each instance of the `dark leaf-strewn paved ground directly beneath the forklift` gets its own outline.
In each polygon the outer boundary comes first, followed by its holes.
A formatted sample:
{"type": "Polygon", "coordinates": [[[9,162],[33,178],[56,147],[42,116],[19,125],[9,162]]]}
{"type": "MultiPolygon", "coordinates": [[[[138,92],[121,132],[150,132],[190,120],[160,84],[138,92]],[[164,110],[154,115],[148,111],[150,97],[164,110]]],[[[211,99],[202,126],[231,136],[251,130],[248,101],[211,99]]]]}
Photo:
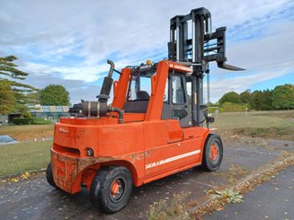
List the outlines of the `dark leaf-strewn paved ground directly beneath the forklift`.
{"type": "Polygon", "coordinates": [[[277,159],[281,150],[294,150],[294,142],[239,136],[227,138],[225,146],[218,172],[190,169],[135,188],[127,207],[114,215],[96,210],[86,189],[69,195],[50,187],[44,172],[34,173],[28,180],[0,183],[0,213],[3,219],[147,219],[149,206],[160,199],[169,201],[174,193],[190,192],[184,202],[196,205],[205,190],[225,188],[277,159]]]}

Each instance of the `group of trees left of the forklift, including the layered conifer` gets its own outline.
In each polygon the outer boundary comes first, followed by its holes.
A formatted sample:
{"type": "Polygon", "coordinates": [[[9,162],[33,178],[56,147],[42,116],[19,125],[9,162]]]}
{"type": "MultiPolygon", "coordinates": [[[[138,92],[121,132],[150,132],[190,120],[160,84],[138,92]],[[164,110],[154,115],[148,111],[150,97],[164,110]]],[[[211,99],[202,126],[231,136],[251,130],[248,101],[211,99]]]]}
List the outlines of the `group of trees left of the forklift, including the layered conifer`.
{"type": "Polygon", "coordinates": [[[69,105],[69,92],[60,84],[43,89],[23,84],[29,75],[17,69],[14,56],[0,57],[0,114],[30,115],[29,105],[69,105]]]}

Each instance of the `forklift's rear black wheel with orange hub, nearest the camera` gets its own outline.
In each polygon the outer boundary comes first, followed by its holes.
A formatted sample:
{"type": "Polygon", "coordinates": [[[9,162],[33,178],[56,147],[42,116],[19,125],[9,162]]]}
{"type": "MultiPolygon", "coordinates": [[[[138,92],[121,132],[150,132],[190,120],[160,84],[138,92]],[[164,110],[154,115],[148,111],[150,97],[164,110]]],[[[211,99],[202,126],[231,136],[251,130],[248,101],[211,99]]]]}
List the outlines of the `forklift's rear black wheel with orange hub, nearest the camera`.
{"type": "Polygon", "coordinates": [[[102,168],[94,176],[90,198],[94,207],[112,214],[127,205],[131,189],[132,179],[129,170],[121,166],[111,166],[102,168]]]}

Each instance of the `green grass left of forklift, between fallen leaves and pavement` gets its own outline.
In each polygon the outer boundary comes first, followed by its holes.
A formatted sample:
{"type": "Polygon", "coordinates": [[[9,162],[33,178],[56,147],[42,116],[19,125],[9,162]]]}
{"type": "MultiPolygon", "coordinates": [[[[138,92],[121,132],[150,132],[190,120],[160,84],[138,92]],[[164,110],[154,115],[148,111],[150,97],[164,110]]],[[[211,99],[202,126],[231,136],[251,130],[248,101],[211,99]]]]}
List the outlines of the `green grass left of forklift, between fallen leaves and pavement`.
{"type": "Polygon", "coordinates": [[[0,177],[46,168],[52,141],[0,145],[0,177]]]}

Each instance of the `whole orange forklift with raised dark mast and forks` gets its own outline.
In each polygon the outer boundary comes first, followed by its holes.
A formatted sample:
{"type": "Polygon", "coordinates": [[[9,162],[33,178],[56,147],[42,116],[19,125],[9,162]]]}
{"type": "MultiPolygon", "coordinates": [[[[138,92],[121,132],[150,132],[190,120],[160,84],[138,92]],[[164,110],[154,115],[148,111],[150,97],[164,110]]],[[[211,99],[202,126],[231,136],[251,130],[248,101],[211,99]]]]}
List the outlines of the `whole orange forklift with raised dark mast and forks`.
{"type": "Polygon", "coordinates": [[[226,64],[226,27],[212,32],[206,8],[175,16],[170,31],[168,59],[121,71],[108,60],[98,101],[82,101],[56,123],[46,172],[51,186],[71,194],[86,187],[94,207],[111,214],[126,206],[133,185],[199,165],[218,170],[223,144],[209,128],[214,119],[203,103],[203,78],[211,61],[242,69],[226,64]]]}

